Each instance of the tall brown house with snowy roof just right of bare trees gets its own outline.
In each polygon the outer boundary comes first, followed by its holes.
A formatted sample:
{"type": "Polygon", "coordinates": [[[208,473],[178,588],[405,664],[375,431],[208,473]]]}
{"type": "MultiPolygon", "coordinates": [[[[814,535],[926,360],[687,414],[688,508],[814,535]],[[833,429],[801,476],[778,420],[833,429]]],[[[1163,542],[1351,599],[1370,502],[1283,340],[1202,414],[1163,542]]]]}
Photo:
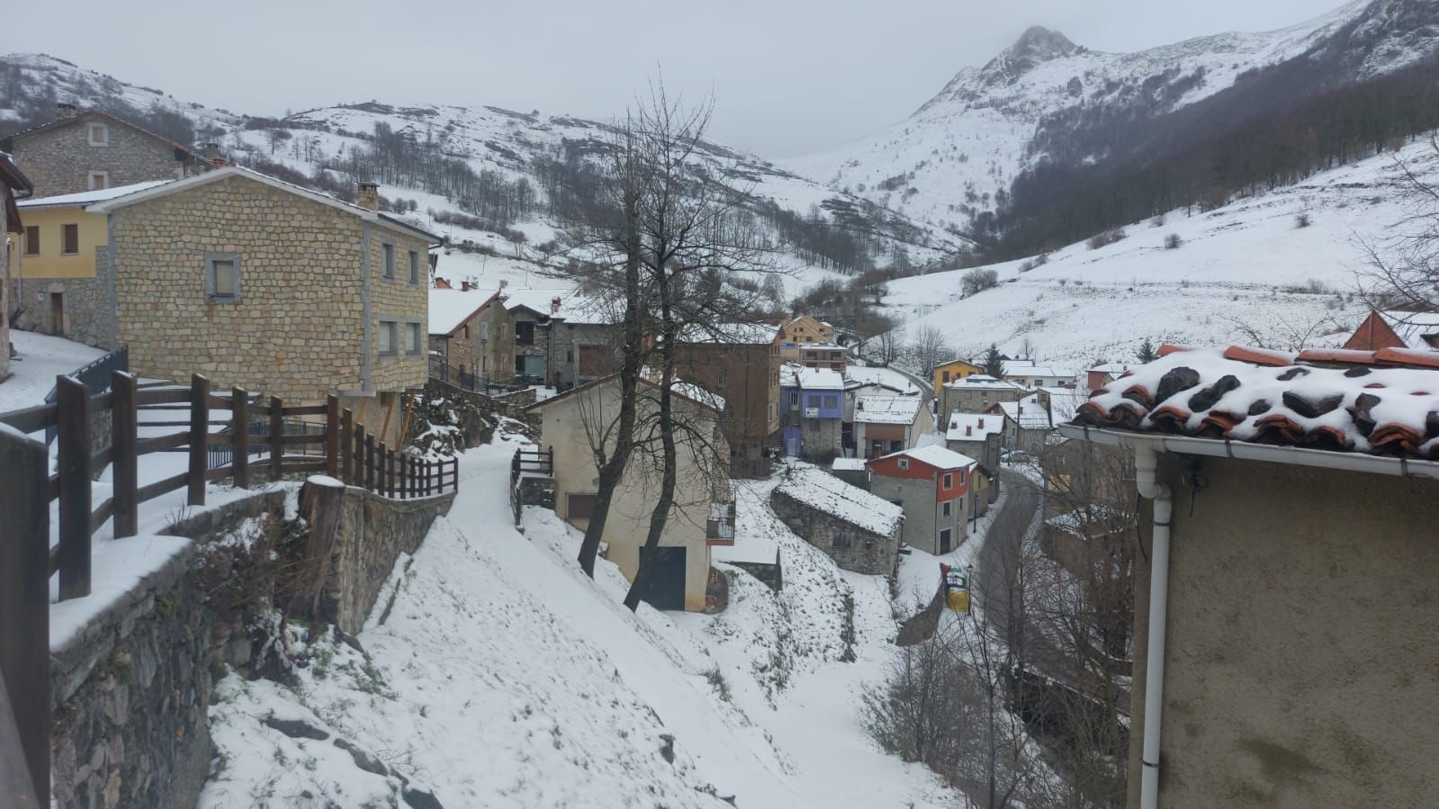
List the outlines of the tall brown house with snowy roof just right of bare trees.
{"type": "Polygon", "coordinates": [[[780,440],[780,333],[764,324],[718,324],[675,345],[681,379],[725,399],[730,475],[767,478],[780,440]]]}

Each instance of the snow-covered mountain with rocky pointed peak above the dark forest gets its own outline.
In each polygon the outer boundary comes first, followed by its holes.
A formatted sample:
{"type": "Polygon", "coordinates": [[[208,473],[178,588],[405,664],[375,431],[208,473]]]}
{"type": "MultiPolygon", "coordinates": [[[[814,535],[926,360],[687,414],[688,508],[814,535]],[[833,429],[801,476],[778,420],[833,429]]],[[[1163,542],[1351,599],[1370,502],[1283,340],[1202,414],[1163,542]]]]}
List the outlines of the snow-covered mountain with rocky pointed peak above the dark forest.
{"type": "Polygon", "coordinates": [[[783,166],[915,219],[964,227],[1002,209],[1016,177],[1040,161],[1120,157],[1143,145],[1131,122],[1160,119],[1265,68],[1304,59],[1305,81],[1324,86],[1436,55],[1439,4],[1430,0],[1357,0],[1275,32],[1203,36],[1137,53],[1091,50],[1032,27],[983,68],[960,71],[909,118],[783,166]],[[1112,128],[1078,138],[1076,121],[1112,128]]]}

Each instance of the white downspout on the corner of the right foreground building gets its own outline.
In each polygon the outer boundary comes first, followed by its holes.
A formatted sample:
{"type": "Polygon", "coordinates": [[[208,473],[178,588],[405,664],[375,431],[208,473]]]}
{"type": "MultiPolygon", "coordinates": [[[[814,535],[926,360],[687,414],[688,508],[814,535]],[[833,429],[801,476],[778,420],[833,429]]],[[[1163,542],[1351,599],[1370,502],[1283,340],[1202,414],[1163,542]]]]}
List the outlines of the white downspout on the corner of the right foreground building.
{"type": "Polygon", "coordinates": [[[1164,622],[1168,609],[1170,518],[1174,495],[1158,481],[1158,458],[1148,443],[1134,448],[1134,484],[1154,501],[1150,561],[1150,635],[1144,666],[1144,749],[1140,756],[1140,809],[1156,809],[1160,793],[1160,715],[1164,707],[1164,622]]]}

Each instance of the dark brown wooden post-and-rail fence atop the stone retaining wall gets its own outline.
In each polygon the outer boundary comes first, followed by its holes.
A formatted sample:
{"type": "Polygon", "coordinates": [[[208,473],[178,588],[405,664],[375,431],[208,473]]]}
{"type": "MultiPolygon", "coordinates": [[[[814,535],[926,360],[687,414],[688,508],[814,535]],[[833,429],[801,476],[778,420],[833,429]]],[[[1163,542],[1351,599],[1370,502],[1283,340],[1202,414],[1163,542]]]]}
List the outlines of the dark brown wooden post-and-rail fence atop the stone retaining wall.
{"type": "MultiPolygon", "coordinates": [[[[279,399],[253,402],[243,389],[210,392],[203,376],[189,387],[140,387],[132,374],[114,371],[101,394],[71,377],[56,381],[53,403],[0,413],[0,677],[14,708],[14,726],[36,785],[49,795],[49,580],[59,574],[60,600],[91,592],[91,537],[106,520],[117,540],[138,531],[140,504],[186,489],[189,505],[204,505],[206,484],[233,479],[249,487],[259,478],[328,474],[381,497],[410,500],[459,488],[459,461],[425,461],[377,442],[337,396],[324,404],[285,404],[279,399]],[[108,410],[114,439],[91,446],[91,417],[108,410]],[[217,412],[227,417],[212,419],[217,412]],[[154,419],[141,417],[157,416],[154,419]],[[170,416],[168,413],[176,413],[170,416]],[[180,417],[187,416],[187,417],[180,417]],[[318,435],[285,435],[286,419],[318,419],[318,435]],[[268,420],[266,435],[250,425],[268,420]],[[45,443],[19,433],[53,429],[56,474],[49,472],[45,443]],[[147,435],[181,428],[164,435],[147,435]],[[229,428],[227,432],[219,432],[229,428]],[[209,468],[209,448],[229,445],[230,462],[209,468]],[[255,453],[256,445],[268,452],[255,453]],[[322,455],[295,452],[322,448],[322,455]],[[140,458],[155,452],[184,452],[186,469],[140,485],[140,458]],[[253,456],[253,458],[252,458],[253,456]],[[111,466],[111,495],[94,502],[91,481],[111,466]],[[59,501],[59,541],[50,546],[50,502],[59,501]],[[43,789],[42,789],[43,786],[43,789]]],[[[7,731],[0,720],[0,737],[7,731]]],[[[3,743],[3,738],[0,738],[3,743]]]]}

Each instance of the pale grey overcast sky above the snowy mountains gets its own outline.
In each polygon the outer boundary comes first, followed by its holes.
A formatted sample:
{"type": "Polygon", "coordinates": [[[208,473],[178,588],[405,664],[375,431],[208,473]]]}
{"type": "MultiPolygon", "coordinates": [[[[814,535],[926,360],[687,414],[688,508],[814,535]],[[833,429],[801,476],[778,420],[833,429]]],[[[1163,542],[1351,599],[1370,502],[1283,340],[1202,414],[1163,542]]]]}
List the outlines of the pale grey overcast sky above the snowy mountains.
{"type": "Polygon", "coordinates": [[[663,69],[715,140],[789,157],[914,112],[1042,24],[1138,50],[1308,20],[1341,0],[79,0],[14,3],[39,50],[232,112],[378,99],[610,118],[663,69]],[[63,9],[63,13],[62,13],[63,9]]]}

